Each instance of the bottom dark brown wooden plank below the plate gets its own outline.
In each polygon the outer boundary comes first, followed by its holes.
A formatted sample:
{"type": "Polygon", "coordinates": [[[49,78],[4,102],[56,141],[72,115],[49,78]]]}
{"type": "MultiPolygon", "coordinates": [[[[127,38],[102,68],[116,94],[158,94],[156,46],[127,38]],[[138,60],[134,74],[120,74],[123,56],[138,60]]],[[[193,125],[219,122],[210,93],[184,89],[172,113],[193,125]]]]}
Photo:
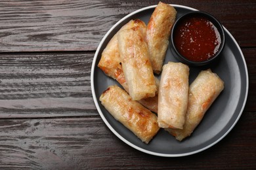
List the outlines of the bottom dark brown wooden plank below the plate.
{"type": "Polygon", "coordinates": [[[245,112],[215,146],[172,159],[131,148],[97,117],[2,119],[0,169],[251,169],[256,166],[255,122],[255,112],[245,112]]]}

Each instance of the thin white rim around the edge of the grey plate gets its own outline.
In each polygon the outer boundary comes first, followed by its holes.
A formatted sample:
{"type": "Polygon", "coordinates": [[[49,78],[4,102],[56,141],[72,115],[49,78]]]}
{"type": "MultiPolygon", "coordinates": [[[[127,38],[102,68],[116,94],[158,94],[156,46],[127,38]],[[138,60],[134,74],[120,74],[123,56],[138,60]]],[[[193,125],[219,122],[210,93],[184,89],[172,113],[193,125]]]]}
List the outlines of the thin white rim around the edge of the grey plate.
{"type": "MultiPolygon", "coordinates": [[[[198,10],[198,9],[194,9],[192,7],[187,7],[184,5],[176,5],[176,4],[170,4],[173,7],[179,7],[182,9],[188,9],[188,10],[198,10]]],[[[151,154],[154,156],[162,156],[162,157],[181,157],[181,156],[189,156],[192,154],[196,154],[198,152],[202,152],[203,150],[206,150],[207,148],[210,148],[211,146],[219,143],[219,141],[221,141],[232,129],[233,127],[236,125],[236,123],[238,122],[238,120],[240,119],[240,116],[242,115],[242,112],[244,111],[244,107],[247,101],[247,95],[248,95],[248,91],[249,91],[249,76],[248,76],[248,71],[247,71],[247,64],[244,58],[244,54],[240,48],[240,46],[238,45],[238,42],[236,41],[236,39],[234,39],[234,37],[231,35],[231,33],[226,29],[226,27],[223,26],[224,31],[230,36],[230,38],[232,39],[232,41],[234,42],[235,46],[237,47],[238,51],[240,52],[240,55],[242,56],[242,60],[244,62],[244,67],[245,67],[245,78],[246,78],[246,87],[245,87],[245,98],[244,98],[244,103],[242,105],[242,108],[240,110],[240,113],[238,114],[238,116],[236,117],[236,120],[233,122],[232,126],[229,127],[229,129],[221,136],[219,137],[219,139],[217,139],[216,141],[214,141],[213,143],[199,149],[199,150],[195,150],[192,152],[186,152],[186,153],[182,153],[182,154],[163,154],[163,153],[158,153],[158,152],[152,152],[150,150],[146,150],[144,148],[140,148],[139,146],[127,141],[124,137],[122,137],[119,133],[117,133],[117,131],[114,129],[114,127],[112,127],[110,125],[110,123],[108,122],[108,120],[106,120],[104,114],[102,113],[102,110],[100,109],[100,106],[98,104],[97,98],[96,98],[96,93],[95,93],[95,84],[94,84],[94,69],[95,69],[95,65],[96,65],[96,59],[98,56],[98,52],[100,51],[100,48],[102,46],[102,44],[104,43],[104,41],[106,40],[106,38],[108,37],[108,35],[110,35],[110,33],[113,31],[113,29],[115,29],[117,27],[117,25],[119,25],[121,22],[123,22],[124,20],[126,20],[127,18],[129,18],[130,16],[133,16],[139,12],[142,12],[144,10],[148,10],[148,9],[153,9],[156,8],[157,5],[150,5],[148,7],[143,7],[141,9],[135,10],[133,12],[131,12],[130,14],[127,14],[126,16],[124,16],[123,18],[121,18],[118,22],[116,22],[116,24],[112,25],[112,27],[107,31],[107,33],[104,35],[104,37],[102,38],[102,40],[100,41],[100,43],[98,44],[98,47],[96,49],[95,52],[95,56],[93,57],[93,63],[92,63],[92,67],[91,67],[91,91],[92,91],[92,95],[93,95],[93,101],[95,103],[95,107],[96,110],[98,111],[98,113],[100,114],[100,117],[102,118],[103,122],[106,124],[106,126],[108,126],[108,128],[112,131],[112,133],[114,133],[119,139],[121,139],[121,141],[123,141],[124,143],[128,144],[129,146],[140,150],[141,152],[144,152],[146,154],[151,154]]]]}

